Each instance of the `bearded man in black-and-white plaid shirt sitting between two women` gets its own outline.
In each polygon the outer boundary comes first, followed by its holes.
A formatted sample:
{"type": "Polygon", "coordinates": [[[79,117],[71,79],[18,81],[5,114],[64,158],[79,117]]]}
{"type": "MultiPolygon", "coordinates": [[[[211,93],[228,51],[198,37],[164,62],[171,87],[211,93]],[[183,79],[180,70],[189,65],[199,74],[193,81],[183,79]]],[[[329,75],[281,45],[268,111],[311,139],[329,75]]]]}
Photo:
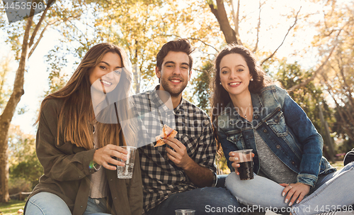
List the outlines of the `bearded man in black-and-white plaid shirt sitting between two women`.
{"type": "Polygon", "coordinates": [[[139,148],[144,214],[170,215],[176,209],[210,214],[222,207],[228,207],[229,212],[239,207],[232,194],[215,187],[216,144],[209,116],[182,98],[191,75],[192,52],[185,39],[164,44],[156,56],[160,85],[134,96],[143,127],[139,135],[145,142],[139,148]],[[164,125],[178,131],[177,136],[164,140],[166,145],[154,147],[155,136],[164,125]]]}

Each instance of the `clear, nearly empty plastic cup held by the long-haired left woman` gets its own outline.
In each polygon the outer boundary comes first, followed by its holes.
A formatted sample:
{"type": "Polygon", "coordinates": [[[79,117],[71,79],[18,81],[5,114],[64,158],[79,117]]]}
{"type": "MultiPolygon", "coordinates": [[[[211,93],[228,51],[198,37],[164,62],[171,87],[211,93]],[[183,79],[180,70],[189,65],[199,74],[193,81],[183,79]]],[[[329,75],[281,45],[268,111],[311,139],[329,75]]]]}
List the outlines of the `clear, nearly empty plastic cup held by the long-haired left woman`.
{"type": "Polygon", "coordinates": [[[117,166],[118,178],[120,179],[130,179],[132,178],[132,171],[134,168],[135,151],[137,150],[134,146],[121,146],[127,150],[127,160],[119,159],[119,161],[124,162],[124,167],[117,166]]]}

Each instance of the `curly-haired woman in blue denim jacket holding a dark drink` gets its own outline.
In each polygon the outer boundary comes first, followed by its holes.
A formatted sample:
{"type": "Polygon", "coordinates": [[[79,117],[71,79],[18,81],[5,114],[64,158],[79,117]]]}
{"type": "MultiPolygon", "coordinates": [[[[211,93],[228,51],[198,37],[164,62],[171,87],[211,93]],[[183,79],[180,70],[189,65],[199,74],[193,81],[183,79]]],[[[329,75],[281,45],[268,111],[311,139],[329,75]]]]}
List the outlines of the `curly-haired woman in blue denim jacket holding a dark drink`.
{"type": "Polygon", "coordinates": [[[354,163],[337,171],[301,107],[272,85],[250,50],[229,45],[215,62],[212,121],[241,204],[292,214],[353,210],[354,163]],[[252,149],[253,180],[240,180],[235,150],[252,149]],[[348,192],[350,191],[350,192],[348,192]]]}

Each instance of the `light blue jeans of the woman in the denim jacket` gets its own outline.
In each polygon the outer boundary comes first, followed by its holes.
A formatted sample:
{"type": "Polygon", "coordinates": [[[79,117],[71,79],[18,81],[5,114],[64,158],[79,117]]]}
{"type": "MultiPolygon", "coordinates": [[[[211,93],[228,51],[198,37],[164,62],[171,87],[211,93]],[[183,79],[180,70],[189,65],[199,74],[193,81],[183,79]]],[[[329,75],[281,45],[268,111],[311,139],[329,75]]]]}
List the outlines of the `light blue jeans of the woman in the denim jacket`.
{"type": "Polygon", "coordinates": [[[253,180],[239,180],[232,172],[226,180],[227,189],[234,194],[241,204],[254,209],[275,209],[279,213],[291,211],[293,215],[319,214],[343,208],[353,209],[354,204],[354,162],[342,170],[320,176],[309,195],[299,204],[288,206],[282,197],[284,187],[265,177],[254,175],[253,180]]]}

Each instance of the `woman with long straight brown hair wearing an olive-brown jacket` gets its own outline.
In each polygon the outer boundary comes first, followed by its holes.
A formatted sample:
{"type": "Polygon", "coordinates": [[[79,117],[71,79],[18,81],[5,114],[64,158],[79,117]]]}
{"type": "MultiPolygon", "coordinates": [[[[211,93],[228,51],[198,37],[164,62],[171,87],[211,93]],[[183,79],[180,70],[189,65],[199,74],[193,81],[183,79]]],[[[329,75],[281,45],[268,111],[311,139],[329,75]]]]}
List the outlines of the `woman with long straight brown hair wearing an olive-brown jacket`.
{"type": "Polygon", "coordinates": [[[117,177],[121,146],[135,145],[128,97],[132,72],[125,52],[101,43],[69,82],[40,106],[36,151],[44,175],[25,214],[142,214],[139,155],[132,179],[117,177]],[[118,114],[119,112],[119,114],[118,114]]]}

